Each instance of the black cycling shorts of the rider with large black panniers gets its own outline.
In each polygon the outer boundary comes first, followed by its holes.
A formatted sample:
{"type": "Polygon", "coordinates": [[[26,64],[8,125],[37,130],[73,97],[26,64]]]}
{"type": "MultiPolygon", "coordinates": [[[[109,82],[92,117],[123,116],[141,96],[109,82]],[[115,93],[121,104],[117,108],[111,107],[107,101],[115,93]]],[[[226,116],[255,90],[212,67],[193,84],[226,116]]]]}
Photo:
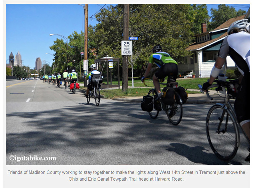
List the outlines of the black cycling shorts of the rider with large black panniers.
{"type": "Polygon", "coordinates": [[[175,63],[165,63],[155,73],[158,80],[165,78],[166,76],[172,76],[172,79],[176,81],[178,76],[178,66],[175,63]]]}

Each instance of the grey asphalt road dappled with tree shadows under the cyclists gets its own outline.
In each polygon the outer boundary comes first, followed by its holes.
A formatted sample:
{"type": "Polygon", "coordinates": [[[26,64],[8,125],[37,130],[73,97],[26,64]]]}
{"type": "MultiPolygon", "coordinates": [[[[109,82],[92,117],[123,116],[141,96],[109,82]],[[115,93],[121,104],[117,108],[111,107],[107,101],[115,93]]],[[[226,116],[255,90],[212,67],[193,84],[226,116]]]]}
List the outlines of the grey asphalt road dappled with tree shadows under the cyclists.
{"type": "Polygon", "coordinates": [[[6,82],[7,165],[250,165],[247,144],[229,162],[212,152],[205,118],[212,104],[185,104],[173,126],[165,112],[151,119],[140,103],[101,99],[42,80],[6,82]],[[55,157],[17,161],[13,157],[55,157]]]}

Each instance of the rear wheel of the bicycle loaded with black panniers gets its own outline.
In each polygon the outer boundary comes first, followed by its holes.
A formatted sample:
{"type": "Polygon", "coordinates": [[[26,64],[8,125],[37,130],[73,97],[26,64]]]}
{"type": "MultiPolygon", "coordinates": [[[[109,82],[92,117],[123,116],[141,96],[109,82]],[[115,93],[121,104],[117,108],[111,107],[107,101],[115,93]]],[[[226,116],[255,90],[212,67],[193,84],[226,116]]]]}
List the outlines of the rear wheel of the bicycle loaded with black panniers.
{"type": "Polygon", "coordinates": [[[180,95],[175,91],[175,103],[173,105],[164,105],[165,112],[169,121],[173,125],[178,125],[182,119],[183,108],[180,101],[180,95]]]}

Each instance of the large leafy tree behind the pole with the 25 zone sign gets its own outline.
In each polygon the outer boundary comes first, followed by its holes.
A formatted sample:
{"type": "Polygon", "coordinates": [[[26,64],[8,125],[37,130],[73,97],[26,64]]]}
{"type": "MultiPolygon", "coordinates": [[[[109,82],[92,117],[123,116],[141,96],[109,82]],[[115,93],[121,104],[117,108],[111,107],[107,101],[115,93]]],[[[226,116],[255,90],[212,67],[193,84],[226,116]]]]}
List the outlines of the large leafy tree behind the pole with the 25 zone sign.
{"type": "MultiPolygon", "coordinates": [[[[99,24],[94,27],[91,36],[100,57],[108,55],[122,59],[123,6],[110,6],[95,16],[99,24]]],[[[139,38],[133,46],[133,53],[138,55],[136,62],[133,61],[138,73],[145,68],[152,47],[158,43],[174,59],[189,54],[186,47],[193,40],[191,30],[194,21],[207,18],[206,7],[196,7],[194,10],[190,4],[129,4],[129,34],[139,38]],[[197,14],[196,17],[195,11],[200,8],[204,9],[204,14],[197,14]]]]}

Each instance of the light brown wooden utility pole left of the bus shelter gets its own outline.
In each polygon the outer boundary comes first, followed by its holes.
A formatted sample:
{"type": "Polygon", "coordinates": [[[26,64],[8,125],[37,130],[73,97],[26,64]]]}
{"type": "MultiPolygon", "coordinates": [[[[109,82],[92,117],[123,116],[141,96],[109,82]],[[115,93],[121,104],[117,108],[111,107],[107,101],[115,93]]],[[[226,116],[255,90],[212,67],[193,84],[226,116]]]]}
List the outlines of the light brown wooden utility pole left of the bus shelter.
{"type": "MultiPolygon", "coordinates": [[[[88,74],[88,4],[84,4],[84,71],[88,74]]],[[[87,81],[84,75],[84,87],[87,81]]]]}

